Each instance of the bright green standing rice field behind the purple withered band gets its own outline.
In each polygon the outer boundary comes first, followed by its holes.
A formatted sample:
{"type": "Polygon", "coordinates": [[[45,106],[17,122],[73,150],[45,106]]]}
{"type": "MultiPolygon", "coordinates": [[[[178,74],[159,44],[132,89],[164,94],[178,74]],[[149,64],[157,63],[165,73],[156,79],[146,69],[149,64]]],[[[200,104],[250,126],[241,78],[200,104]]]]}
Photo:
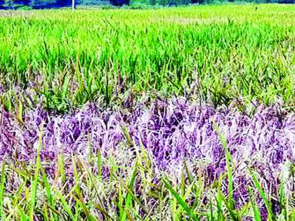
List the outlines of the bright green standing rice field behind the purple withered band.
{"type": "Polygon", "coordinates": [[[294,107],[294,6],[0,12],[0,102],[67,110],[193,93],[294,107]],[[32,98],[27,100],[28,94],[32,98]],[[41,97],[41,98],[40,98],[41,97]]]}

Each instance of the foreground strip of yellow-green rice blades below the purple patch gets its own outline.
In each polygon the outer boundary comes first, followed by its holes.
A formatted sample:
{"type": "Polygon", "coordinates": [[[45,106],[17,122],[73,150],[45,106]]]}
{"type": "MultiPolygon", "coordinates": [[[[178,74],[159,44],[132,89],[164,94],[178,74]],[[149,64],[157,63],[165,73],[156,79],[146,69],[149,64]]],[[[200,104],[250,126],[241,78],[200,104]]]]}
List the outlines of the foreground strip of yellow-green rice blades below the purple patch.
{"type": "Polygon", "coordinates": [[[185,162],[178,175],[157,173],[144,151],[137,152],[133,163],[124,166],[117,164],[122,161],[99,154],[89,161],[72,156],[71,178],[65,174],[63,163],[52,180],[39,156],[36,166],[19,163],[15,167],[2,162],[1,220],[291,221],[295,217],[294,199],[284,192],[284,181],[278,186],[278,195],[272,196],[263,188],[261,176],[250,168],[252,185],[245,187],[250,200],[238,207],[232,192],[226,190],[232,187],[223,189],[231,177],[231,165],[218,182],[208,186],[204,174],[192,175],[185,162]],[[108,163],[107,176],[98,173],[105,168],[104,163],[108,163]],[[6,189],[11,181],[15,186],[6,189]]]}

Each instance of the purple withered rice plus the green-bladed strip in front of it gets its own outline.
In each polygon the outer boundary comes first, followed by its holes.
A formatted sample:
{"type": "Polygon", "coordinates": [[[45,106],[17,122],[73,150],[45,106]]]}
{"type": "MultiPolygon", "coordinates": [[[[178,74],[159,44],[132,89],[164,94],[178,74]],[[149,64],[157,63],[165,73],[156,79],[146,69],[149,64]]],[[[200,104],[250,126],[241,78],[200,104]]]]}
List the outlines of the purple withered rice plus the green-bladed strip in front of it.
{"type": "Polygon", "coordinates": [[[294,117],[263,106],[249,117],[185,98],[133,111],[90,104],[67,116],[37,109],[22,123],[1,112],[2,214],[291,220],[294,117]]]}

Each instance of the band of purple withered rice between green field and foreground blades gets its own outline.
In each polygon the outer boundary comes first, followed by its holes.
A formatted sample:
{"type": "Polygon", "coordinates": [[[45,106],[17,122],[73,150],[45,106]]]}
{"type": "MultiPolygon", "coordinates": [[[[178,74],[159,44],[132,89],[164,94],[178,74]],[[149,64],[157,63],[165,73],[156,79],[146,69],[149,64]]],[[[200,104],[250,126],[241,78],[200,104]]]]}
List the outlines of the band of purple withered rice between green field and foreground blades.
{"type": "MultiPolygon", "coordinates": [[[[133,111],[110,112],[86,105],[66,116],[36,109],[25,114],[22,122],[1,112],[1,160],[17,167],[34,165],[41,135],[41,163],[50,182],[58,175],[59,156],[63,156],[65,174],[71,183],[73,154],[80,161],[89,162],[91,156],[100,153],[104,159],[102,178],[109,180],[112,159],[124,171],[133,165],[136,153],[144,151],[152,162],[149,169],[155,173],[154,178],[160,178],[163,172],[179,182],[185,162],[192,178],[203,176],[206,189],[226,173],[228,148],[233,197],[235,206],[240,208],[249,201],[250,170],[260,175],[263,187],[274,199],[282,177],[287,194],[294,192],[289,174],[294,166],[294,122],[295,115],[279,107],[259,106],[249,117],[235,107],[214,109],[184,98],[156,100],[150,108],[138,105],[133,111]],[[216,130],[225,138],[226,148],[216,130]]],[[[96,164],[90,169],[97,175],[96,164]]],[[[157,184],[157,180],[152,182],[157,184]]],[[[13,183],[7,188],[17,189],[18,186],[11,187],[13,183]]],[[[222,186],[226,192],[226,179],[222,186]]]]}

